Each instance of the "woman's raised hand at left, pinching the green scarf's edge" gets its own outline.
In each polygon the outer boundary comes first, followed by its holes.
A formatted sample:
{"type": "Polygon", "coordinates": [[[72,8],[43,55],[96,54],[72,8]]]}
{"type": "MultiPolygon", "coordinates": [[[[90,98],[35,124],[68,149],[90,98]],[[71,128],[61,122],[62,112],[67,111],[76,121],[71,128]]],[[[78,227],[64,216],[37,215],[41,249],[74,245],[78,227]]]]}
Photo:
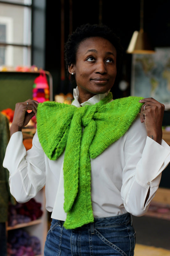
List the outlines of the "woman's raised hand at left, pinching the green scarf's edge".
{"type": "Polygon", "coordinates": [[[30,99],[16,104],[14,117],[10,128],[11,135],[14,132],[22,131],[22,128],[29,123],[33,116],[37,114],[38,104],[38,101],[30,99]],[[32,111],[28,113],[27,110],[32,111]]]}

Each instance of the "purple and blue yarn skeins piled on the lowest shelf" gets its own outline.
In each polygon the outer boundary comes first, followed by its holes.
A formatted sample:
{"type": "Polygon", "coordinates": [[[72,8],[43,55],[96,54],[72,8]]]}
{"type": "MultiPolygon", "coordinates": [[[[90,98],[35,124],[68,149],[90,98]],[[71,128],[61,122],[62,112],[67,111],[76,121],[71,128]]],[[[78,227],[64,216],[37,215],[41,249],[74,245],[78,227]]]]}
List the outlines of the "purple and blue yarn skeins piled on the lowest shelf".
{"type": "Polygon", "coordinates": [[[41,254],[40,239],[30,236],[23,228],[8,232],[7,256],[34,256],[41,254]]]}

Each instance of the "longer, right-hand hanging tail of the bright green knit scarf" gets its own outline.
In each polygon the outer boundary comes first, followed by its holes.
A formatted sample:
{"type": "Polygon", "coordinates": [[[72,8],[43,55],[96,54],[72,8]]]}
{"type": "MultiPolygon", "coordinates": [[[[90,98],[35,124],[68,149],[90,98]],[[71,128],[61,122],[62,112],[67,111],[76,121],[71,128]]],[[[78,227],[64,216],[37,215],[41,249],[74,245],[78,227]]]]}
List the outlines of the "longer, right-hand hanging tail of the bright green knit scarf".
{"type": "MultiPolygon", "coordinates": [[[[79,162],[79,180],[78,193],[74,200],[74,204],[70,211],[67,212],[67,218],[64,222],[65,228],[78,228],[84,224],[94,221],[91,202],[91,163],[89,155],[89,147],[95,135],[96,124],[91,120],[88,126],[85,127],[80,148],[80,162],[79,162]]],[[[64,182],[67,186],[67,182],[64,182]]],[[[72,183],[71,183],[72,187],[72,183]]],[[[65,191],[65,199],[67,196],[65,191]]],[[[71,198],[71,195],[68,195],[71,198]]],[[[66,200],[65,200],[66,203],[66,200]]],[[[68,204],[68,203],[67,203],[68,204]]],[[[66,207],[65,207],[66,208],[66,207]]],[[[65,209],[64,209],[65,210],[65,209]]]]}

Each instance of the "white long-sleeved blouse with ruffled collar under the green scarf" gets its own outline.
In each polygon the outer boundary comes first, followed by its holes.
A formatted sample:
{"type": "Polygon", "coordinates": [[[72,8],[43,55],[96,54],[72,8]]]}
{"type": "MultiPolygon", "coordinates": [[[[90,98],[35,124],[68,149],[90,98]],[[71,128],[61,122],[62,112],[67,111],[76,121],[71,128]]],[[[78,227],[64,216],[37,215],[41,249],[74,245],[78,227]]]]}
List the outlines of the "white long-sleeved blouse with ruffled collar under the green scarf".
{"type": "MultiPolygon", "coordinates": [[[[81,104],[93,105],[106,94],[98,94],[81,104]]],[[[78,89],[74,89],[72,105],[78,102],[78,89]]],[[[44,153],[37,132],[33,146],[26,151],[22,132],[12,134],[6,149],[3,166],[10,172],[11,194],[20,203],[34,197],[45,186],[46,209],[51,217],[65,220],[63,210],[63,159],[50,160],[44,153]]],[[[102,154],[91,159],[91,197],[94,217],[110,217],[125,212],[143,215],[154,197],[161,172],[170,162],[170,147],[149,138],[140,117],[129,130],[102,154]],[[150,188],[149,198],[145,199],[150,188]]]]}

